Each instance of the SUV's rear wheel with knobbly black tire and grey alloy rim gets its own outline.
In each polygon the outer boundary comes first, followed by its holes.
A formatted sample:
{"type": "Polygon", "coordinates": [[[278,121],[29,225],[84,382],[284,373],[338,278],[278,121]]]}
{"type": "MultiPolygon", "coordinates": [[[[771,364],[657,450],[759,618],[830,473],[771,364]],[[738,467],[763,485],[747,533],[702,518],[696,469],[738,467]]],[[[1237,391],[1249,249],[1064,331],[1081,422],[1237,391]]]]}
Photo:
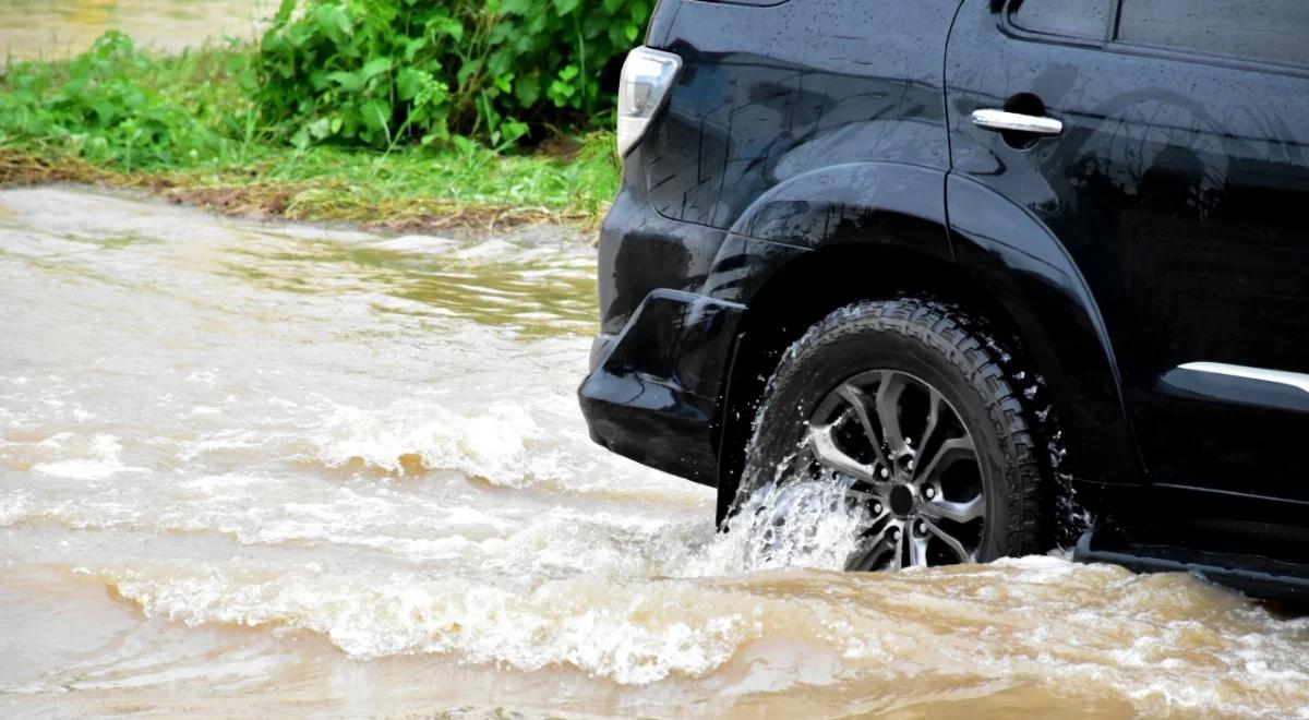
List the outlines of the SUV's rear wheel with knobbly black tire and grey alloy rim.
{"type": "Polygon", "coordinates": [[[768,381],[734,512],[776,512],[758,499],[795,483],[839,486],[860,518],[847,569],[1041,551],[1049,470],[1008,359],[978,322],[937,301],[835,310],[768,381]]]}

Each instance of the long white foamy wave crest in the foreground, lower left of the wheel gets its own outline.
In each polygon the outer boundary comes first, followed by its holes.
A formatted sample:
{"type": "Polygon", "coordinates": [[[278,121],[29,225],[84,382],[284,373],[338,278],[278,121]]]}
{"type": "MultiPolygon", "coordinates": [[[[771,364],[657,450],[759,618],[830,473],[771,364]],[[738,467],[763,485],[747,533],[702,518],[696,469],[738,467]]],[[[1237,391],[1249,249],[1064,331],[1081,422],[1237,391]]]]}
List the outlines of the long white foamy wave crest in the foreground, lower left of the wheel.
{"type": "Polygon", "coordinates": [[[132,571],[109,575],[148,614],[187,624],[291,623],[323,632],[360,657],[458,652],[522,670],[571,664],[622,683],[702,675],[757,632],[723,597],[673,581],[634,589],[575,577],[520,594],[401,573],[347,579],[296,571],[260,580],[173,568],[161,580],[132,571]]]}

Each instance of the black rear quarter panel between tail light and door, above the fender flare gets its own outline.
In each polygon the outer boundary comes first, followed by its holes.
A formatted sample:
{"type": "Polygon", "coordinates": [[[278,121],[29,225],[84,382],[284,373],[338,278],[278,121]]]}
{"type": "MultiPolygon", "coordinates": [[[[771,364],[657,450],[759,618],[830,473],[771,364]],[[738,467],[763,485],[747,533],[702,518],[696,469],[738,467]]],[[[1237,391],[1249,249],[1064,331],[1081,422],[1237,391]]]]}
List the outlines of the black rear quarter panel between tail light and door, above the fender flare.
{"type": "Polygon", "coordinates": [[[628,160],[645,174],[649,203],[669,219],[726,229],[770,189],[831,165],[944,170],[940,58],[956,7],[669,5],[660,47],[682,58],[682,71],[665,115],[628,160]],[[761,47],[768,37],[787,42],[761,47]]]}

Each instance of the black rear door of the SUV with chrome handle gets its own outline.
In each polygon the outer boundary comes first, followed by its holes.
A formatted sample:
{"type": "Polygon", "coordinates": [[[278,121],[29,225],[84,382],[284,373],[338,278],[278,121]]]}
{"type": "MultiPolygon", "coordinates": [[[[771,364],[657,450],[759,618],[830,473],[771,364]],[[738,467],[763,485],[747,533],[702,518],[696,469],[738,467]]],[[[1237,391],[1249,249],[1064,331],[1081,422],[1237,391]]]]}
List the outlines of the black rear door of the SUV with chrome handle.
{"type": "Polygon", "coordinates": [[[1304,0],[965,0],[956,18],[952,173],[1077,263],[1155,483],[1309,500],[1306,37],[1304,0]]]}

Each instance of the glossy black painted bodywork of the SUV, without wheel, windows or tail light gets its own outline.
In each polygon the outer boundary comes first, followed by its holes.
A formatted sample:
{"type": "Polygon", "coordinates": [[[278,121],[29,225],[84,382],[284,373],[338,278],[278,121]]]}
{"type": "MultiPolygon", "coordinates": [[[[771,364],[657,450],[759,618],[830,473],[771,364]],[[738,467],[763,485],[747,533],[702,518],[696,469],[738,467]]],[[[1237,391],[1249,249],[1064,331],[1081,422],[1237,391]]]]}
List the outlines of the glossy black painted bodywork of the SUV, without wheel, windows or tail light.
{"type": "Polygon", "coordinates": [[[601,233],[593,436],[729,494],[806,322],[931,292],[1020,350],[1103,517],[1291,547],[1309,394],[1178,367],[1309,373],[1309,72],[1117,42],[1105,4],[1064,38],[1000,0],[664,0],[683,69],[601,233]]]}

